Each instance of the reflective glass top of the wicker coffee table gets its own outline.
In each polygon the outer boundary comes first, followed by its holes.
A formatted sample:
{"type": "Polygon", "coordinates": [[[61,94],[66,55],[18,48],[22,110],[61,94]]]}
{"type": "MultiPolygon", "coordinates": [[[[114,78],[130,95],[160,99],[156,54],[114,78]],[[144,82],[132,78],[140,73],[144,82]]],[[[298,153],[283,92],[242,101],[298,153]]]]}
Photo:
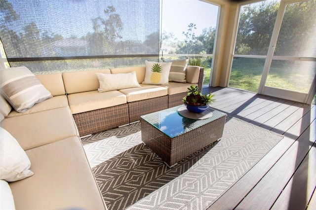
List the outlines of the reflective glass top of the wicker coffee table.
{"type": "Polygon", "coordinates": [[[141,118],[152,124],[168,137],[174,138],[226,115],[223,112],[209,108],[209,111],[212,112],[211,117],[204,120],[189,119],[178,113],[177,110],[181,106],[184,105],[142,115],[141,118]]]}

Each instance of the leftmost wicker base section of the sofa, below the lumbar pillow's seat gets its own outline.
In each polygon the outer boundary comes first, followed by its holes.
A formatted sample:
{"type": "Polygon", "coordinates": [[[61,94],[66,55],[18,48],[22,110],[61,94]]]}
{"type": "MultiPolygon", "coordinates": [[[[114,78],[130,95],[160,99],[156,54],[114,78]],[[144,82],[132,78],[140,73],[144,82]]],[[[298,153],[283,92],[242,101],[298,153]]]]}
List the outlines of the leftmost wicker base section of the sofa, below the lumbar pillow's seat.
{"type": "Polygon", "coordinates": [[[73,117],[80,137],[129,124],[127,104],[73,114],[73,117]]]}

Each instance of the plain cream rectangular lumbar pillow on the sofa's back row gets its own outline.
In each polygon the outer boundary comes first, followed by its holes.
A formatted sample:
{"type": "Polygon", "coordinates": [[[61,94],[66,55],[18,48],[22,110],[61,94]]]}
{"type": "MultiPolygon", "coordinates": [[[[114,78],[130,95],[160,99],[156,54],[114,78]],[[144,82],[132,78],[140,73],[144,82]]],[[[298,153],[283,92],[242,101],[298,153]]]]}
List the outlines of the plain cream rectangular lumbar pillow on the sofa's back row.
{"type": "Polygon", "coordinates": [[[141,87],[137,81],[136,72],[130,73],[96,73],[99,79],[100,93],[111,90],[120,90],[125,88],[141,87]]]}

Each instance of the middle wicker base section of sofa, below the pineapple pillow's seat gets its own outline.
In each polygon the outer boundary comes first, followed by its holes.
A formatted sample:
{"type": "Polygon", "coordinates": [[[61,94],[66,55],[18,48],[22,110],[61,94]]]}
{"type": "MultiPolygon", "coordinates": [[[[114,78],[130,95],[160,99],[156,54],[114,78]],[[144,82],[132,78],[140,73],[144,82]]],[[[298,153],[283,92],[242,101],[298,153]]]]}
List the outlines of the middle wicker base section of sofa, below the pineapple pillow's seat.
{"type": "Polygon", "coordinates": [[[137,102],[128,102],[129,122],[140,120],[141,115],[168,108],[168,95],[137,102]]]}

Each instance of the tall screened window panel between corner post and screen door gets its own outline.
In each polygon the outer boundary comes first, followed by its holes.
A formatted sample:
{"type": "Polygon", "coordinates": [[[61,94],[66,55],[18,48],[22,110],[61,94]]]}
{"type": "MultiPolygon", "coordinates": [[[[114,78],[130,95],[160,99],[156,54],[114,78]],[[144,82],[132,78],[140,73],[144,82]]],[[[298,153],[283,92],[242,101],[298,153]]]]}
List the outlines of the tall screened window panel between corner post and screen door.
{"type": "Polygon", "coordinates": [[[258,92],[279,0],[242,5],[229,86],[258,92]]]}

